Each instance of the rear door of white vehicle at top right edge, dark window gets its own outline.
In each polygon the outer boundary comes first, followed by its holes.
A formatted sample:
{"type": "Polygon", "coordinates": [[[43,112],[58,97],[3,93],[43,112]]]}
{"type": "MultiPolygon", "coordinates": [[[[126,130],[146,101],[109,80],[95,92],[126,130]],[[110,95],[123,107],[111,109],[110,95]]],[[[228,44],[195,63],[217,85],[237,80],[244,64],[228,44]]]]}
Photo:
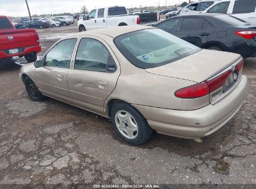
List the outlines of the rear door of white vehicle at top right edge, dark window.
{"type": "Polygon", "coordinates": [[[232,16],[238,17],[246,22],[256,23],[256,1],[237,0],[234,1],[232,16]]]}

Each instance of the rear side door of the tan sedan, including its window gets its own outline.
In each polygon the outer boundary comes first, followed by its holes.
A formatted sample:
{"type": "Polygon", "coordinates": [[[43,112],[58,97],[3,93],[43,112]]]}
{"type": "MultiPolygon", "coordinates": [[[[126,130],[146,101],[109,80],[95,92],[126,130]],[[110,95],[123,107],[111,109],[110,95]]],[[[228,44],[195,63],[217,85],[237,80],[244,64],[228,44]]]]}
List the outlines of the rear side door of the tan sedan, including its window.
{"type": "Polygon", "coordinates": [[[82,38],[67,83],[73,103],[104,114],[104,102],[115,89],[120,67],[110,47],[101,39],[82,38]]]}

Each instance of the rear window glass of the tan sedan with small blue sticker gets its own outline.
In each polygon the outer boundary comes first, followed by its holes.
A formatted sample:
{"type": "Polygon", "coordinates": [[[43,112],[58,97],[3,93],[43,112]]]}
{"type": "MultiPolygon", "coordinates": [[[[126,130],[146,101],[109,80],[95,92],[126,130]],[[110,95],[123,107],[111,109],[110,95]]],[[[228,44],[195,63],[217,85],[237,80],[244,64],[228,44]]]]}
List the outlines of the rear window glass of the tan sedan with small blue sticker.
{"type": "Polygon", "coordinates": [[[143,69],[159,67],[201,50],[160,29],[145,29],[120,35],[114,42],[133,65],[143,69]]]}

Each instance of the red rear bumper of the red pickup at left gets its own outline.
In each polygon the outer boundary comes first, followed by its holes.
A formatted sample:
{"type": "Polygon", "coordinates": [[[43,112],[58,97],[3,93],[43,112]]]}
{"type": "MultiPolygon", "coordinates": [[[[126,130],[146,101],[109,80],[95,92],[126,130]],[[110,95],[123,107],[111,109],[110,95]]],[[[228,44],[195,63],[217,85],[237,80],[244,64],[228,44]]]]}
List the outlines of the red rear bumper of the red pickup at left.
{"type": "Polygon", "coordinates": [[[32,52],[40,52],[41,51],[41,46],[36,45],[36,46],[31,46],[31,47],[21,47],[21,48],[18,48],[18,49],[19,49],[19,53],[16,53],[16,54],[9,54],[8,53],[9,49],[0,50],[0,58],[10,58],[10,57],[27,55],[27,54],[32,53],[32,52]]]}

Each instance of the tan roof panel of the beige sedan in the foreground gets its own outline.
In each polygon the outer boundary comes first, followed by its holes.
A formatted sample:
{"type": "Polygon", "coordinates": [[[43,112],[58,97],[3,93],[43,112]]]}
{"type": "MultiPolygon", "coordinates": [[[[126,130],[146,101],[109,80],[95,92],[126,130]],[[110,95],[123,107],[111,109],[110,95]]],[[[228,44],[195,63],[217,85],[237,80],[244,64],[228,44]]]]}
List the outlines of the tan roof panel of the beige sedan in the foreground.
{"type": "Polygon", "coordinates": [[[128,26],[117,26],[117,27],[118,27],[118,29],[116,29],[116,27],[106,27],[106,28],[102,28],[102,29],[88,30],[85,32],[75,33],[70,36],[78,37],[81,35],[102,34],[102,35],[108,35],[112,38],[115,38],[115,37],[118,37],[119,35],[128,34],[130,32],[135,32],[137,30],[153,29],[154,28],[154,27],[143,26],[143,25],[128,25],[128,26]]]}

